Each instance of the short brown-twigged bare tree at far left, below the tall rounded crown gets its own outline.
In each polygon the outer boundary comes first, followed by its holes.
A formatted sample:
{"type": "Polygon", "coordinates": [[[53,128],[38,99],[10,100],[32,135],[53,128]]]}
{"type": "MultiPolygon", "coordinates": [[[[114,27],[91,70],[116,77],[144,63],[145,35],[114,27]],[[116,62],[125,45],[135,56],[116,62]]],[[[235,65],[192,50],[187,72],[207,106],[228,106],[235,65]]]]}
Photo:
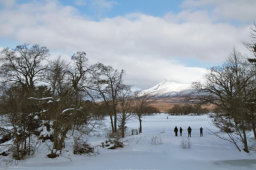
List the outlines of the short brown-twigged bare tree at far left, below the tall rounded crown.
{"type": "Polygon", "coordinates": [[[40,124],[40,121],[35,120],[35,115],[32,113],[33,110],[23,90],[20,85],[9,85],[3,89],[0,96],[1,131],[7,132],[8,140],[14,141],[14,145],[10,142],[7,145],[6,143],[0,144],[0,151],[7,147],[6,153],[12,152],[17,160],[24,159],[26,155],[33,155],[35,145],[37,145],[33,140],[34,132],[40,124]]]}

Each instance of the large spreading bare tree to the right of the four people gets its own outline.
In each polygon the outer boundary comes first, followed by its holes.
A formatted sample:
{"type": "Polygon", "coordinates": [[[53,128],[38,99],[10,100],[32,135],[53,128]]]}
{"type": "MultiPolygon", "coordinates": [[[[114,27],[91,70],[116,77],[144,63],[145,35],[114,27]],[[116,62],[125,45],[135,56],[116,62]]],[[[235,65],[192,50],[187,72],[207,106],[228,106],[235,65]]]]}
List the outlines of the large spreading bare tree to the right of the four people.
{"type": "MultiPolygon", "coordinates": [[[[237,143],[239,139],[245,152],[249,152],[247,132],[250,119],[245,106],[251,92],[249,88],[255,80],[251,68],[245,63],[246,60],[234,47],[222,66],[208,70],[208,73],[204,75],[204,82],[193,83],[195,92],[201,95],[188,98],[188,100],[194,100],[198,102],[198,105],[214,104],[221,109],[223,112],[221,118],[215,117],[212,124],[228,133],[232,143],[237,143]]],[[[239,149],[238,145],[236,147],[239,149]]]]}

